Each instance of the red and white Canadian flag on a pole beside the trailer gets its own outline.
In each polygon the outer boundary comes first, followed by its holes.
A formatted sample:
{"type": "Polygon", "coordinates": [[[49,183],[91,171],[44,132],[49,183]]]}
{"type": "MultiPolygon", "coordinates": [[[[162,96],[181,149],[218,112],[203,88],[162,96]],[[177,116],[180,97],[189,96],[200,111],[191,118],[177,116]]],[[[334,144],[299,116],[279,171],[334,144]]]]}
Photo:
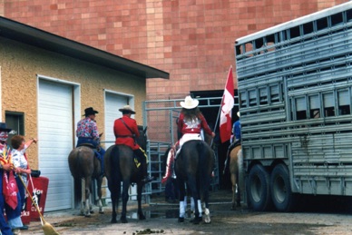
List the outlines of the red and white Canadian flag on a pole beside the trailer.
{"type": "Polygon", "coordinates": [[[234,99],[233,99],[233,75],[232,75],[232,66],[230,66],[228,80],[226,81],[226,86],[224,94],[222,95],[221,102],[221,113],[220,113],[220,140],[221,142],[227,142],[231,138],[231,129],[232,129],[232,108],[234,99]]]}

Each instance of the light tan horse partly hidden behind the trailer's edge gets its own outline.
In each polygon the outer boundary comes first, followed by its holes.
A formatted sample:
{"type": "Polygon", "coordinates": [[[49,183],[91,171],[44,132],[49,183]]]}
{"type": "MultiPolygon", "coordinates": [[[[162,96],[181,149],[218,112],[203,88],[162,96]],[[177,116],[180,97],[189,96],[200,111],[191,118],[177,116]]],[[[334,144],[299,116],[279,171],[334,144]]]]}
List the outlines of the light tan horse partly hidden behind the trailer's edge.
{"type": "Polygon", "coordinates": [[[244,189],[242,148],[237,145],[230,151],[230,178],[232,182],[232,210],[240,207],[240,193],[244,189]]]}

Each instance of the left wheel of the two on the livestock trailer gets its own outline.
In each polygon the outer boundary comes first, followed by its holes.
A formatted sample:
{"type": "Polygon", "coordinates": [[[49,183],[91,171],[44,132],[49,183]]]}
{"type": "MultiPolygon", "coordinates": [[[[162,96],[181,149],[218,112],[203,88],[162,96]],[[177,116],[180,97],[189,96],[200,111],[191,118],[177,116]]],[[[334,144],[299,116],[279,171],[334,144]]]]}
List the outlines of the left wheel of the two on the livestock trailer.
{"type": "Polygon", "coordinates": [[[261,165],[255,165],[249,171],[248,200],[254,211],[267,211],[271,204],[269,173],[261,165]]]}

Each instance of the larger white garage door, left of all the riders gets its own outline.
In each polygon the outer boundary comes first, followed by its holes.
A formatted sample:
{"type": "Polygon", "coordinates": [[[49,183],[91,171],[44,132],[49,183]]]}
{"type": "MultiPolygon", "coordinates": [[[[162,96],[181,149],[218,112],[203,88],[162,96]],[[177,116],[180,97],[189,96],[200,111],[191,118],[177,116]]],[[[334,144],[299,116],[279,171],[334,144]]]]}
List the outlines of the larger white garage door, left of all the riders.
{"type": "Polygon", "coordinates": [[[45,211],[72,208],[68,154],[73,149],[73,87],[39,80],[39,169],[49,178],[45,211]]]}

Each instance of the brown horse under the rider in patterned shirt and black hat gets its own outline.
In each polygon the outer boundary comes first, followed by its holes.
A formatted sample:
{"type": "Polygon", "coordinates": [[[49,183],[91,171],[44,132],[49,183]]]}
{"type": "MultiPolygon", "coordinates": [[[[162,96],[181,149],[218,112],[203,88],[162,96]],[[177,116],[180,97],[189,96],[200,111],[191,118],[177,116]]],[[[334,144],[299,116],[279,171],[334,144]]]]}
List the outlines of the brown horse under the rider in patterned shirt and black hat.
{"type": "Polygon", "coordinates": [[[103,174],[101,162],[95,156],[95,152],[91,147],[80,146],[74,148],[68,156],[68,164],[74,180],[74,195],[76,199],[81,200],[81,214],[90,217],[93,213],[92,204],[90,203],[90,195],[93,191],[93,180],[97,182],[98,206],[99,213],[103,214],[102,203],[102,181],[103,174]],[[82,193],[82,179],[84,180],[85,202],[82,193]],[[85,204],[85,210],[84,210],[85,204]]]}

